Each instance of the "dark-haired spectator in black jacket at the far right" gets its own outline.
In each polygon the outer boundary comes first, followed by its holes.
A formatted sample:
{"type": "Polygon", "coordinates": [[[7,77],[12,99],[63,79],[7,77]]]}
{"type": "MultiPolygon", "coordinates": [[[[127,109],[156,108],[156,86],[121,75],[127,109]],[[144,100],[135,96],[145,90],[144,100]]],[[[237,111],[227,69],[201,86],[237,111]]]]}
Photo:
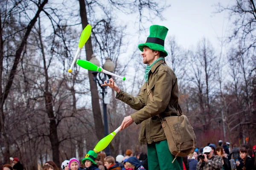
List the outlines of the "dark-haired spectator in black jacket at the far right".
{"type": "Polygon", "coordinates": [[[247,151],[245,148],[239,150],[239,155],[241,157],[240,161],[236,161],[237,170],[253,170],[254,161],[250,156],[247,156],[247,151]]]}

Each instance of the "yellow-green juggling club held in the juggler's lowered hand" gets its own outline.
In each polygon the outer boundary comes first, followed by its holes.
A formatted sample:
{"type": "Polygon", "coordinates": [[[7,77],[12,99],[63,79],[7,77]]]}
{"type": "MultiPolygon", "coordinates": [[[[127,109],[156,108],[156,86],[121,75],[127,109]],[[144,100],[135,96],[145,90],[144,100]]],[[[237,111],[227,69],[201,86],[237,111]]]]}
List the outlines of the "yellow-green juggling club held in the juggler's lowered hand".
{"type": "Polygon", "coordinates": [[[113,131],[112,133],[110,133],[108,136],[106,136],[105,138],[101,139],[97,144],[96,147],[94,147],[94,152],[98,153],[100,151],[102,151],[103,149],[105,149],[108,144],[110,144],[110,142],[112,141],[112,139],[116,136],[116,133],[119,132],[121,126],[119,126],[115,131],[113,131]]]}

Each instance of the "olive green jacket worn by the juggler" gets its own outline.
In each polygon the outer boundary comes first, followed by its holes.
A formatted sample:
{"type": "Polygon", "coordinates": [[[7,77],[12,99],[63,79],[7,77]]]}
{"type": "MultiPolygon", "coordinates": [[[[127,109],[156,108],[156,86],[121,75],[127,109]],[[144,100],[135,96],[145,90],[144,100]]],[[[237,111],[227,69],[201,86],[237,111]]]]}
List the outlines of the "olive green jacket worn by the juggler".
{"type": "Polygon", "coordinates": [[[178,107],[178,82],[175,73],[163,60],[155,63],[148,74],[147,82],[140,89],[137,97],[131,96],[120,89],[116,99],[128,104],[137,112],[131,118],[138,125],[141,123],[140,144],[151,144],[166,140],[160,118],[177,115],[178,107]],[[152,93],[153,100],[148,93],[152,93]]]}

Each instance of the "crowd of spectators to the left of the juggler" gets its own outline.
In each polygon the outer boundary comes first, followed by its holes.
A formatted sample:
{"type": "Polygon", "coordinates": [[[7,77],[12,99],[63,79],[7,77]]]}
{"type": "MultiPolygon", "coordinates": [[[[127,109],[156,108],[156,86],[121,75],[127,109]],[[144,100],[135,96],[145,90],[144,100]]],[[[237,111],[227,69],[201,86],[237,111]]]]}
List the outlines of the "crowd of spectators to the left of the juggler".
{"type": "MultiPolygon", "coordinates": [[[[3,170],[23,170],[23,165],[18,158],[10,158],[11,164],[5,164],[3,170]]],[[[126,150],[125,156],[106,156],[105,153],[95,153],[89,150],[84,159],[77,158],[64,160],[61,170],[146,170],[147,154],[140,153],[133,156],[132,150],[126,150]],[[144,167],[145,166],[145,167],[144,167]]],[[[45,162],[42,170],[60,170],[53,161],[45,162]]]]}

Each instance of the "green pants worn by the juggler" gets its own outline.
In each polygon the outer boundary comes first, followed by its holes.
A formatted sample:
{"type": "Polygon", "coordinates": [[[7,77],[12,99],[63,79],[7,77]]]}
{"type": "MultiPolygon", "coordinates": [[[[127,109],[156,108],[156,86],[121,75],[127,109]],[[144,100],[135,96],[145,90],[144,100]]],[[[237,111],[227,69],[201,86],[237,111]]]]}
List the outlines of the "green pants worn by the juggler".
{"type": "Polygon", "coordinates": [[[148,170],[183,170],[182,157],[174,158],[167,140],[148,144],[148,170]]]}

